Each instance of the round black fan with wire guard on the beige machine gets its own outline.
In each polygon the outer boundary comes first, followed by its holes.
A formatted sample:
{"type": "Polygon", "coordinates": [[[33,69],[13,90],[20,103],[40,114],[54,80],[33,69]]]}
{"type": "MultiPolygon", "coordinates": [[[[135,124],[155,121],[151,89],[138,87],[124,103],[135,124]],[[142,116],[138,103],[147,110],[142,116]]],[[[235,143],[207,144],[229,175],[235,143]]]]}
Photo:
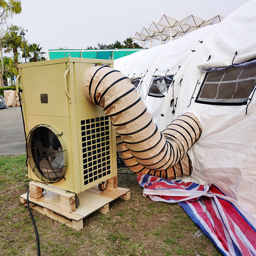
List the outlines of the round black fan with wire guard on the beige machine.
{"type": "Polygon", "coordinates": [[[29,165],[33,173],[45,183],[58,182],[66,174],[68,158],[62,134],[48,124],[39,124],[28,134],[29,165]]]}

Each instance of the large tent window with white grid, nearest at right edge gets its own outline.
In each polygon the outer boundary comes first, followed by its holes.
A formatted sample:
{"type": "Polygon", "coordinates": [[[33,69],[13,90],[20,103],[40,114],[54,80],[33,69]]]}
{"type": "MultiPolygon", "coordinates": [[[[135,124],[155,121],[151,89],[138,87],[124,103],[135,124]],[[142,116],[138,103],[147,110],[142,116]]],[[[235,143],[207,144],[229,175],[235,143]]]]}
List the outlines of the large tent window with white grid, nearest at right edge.
{"type": "Polygon", "coordinates": [[[195,102],[245,105],[256,83],[256,63],[206,73],[195,102]]]}

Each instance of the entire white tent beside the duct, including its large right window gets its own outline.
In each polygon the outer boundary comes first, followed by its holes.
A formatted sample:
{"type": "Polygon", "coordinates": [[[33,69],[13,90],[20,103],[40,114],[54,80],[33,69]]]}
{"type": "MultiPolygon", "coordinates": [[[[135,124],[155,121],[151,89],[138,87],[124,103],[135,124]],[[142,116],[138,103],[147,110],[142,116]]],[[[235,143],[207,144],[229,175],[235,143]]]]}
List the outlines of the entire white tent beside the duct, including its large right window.
{"type": "Polygon", "coordinates": [[[130,77],[143,76],[149,70],[140,94],[161,130],[184,112],[198,117],[202,135],[188,152],[193,173],[185,179],[216,184],[253,214],[256,214],[255,9],[256,1],[250,1],[217,25],[135,53],[115,64],[116,69],[130,77]],[[197,33],[202,35],[195,40],[197,33]],[[194,39],[186,41],[190,37],[194,39]],[[165,97],[146,96],[153,74],[176,74],[174,90],[170,85],[165,97]],[[170,107],[172,99],[175,104],[177,99],[176,107],[170,107]]]}

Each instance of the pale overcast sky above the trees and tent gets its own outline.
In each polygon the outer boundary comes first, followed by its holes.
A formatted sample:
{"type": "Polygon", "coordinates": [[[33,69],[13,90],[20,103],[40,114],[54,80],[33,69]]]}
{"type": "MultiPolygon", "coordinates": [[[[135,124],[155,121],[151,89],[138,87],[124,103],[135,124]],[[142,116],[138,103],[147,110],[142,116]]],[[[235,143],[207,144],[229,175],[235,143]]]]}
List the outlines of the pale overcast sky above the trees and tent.
{"type": "Polygon", "coordinates": [[[43,52],[59,47],[86,49],[98,43],[122,43],[143,26],[159,22],[163,14],[175,19],[191,14],[202,19],[217,14],[227,17],[246,2],[249,0],[21,0],[21,13],[8,22],[26,29],[25,39],[40,43],[43,52]]]}

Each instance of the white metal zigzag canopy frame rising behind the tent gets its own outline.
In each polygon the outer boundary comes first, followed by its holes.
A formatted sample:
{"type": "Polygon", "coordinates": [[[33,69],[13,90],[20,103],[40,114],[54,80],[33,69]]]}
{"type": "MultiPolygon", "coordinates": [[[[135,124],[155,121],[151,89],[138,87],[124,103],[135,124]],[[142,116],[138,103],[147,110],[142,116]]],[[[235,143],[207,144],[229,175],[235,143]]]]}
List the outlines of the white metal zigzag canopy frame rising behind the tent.
{"type": "Polygon", "coordinates": [[[224,17],[219,14],[208,20],[191,14],[176,20],[164,14],[159,22],[153,21],[150,27],[143,27],[142,31],[140,33],[136,32],[132,38],[138,40],[143,45],[143,48],[148,41],[150,42],[150,47],[152,47],[152,42],[155,39],[159,40],[159,44],[164,44],[170,40],[177,39],[179,36],[183,37],[201,27],[217,24],[223,19],[224,17]]]}

